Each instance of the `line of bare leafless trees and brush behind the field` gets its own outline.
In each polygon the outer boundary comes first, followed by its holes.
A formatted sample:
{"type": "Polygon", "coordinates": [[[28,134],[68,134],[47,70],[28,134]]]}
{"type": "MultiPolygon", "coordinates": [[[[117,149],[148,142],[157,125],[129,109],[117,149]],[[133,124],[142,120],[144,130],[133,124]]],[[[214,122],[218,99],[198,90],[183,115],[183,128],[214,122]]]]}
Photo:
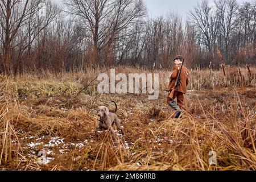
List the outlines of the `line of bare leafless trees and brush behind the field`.
{"type": "Polygon", "coordinates": [[[164,69],[177,54],[188,67],[218,69],[217,49],[225,64],[255,64],[255,0],[201,1],[185,21],[173,13],[150,19],[142,0],[61,2],[0,0],[0,72],[164,69]]]}

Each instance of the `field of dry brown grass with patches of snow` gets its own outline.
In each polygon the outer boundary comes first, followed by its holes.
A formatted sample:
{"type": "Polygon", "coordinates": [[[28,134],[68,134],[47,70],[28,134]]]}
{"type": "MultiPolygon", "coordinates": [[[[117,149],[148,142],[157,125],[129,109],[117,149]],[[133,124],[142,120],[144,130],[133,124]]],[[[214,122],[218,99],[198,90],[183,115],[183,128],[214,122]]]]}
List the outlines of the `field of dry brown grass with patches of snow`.
{"type": "MultiPolygon", "coordinates": [[[[193,70],[185,95],[188,112],[173,119],[160,76],[160,97],[98,94],[100,73],[90,70],[1,77],[0,170],[256,170],[256,68],[193,70]],[[114,109],[125,135],[96,138],[98,106],[114,109]],[[47,164],[38,162],[46,151],[47,164]],[[217,165],[209,165],[216,151],[217,165]]],[[[115,72],[152,72],[118,67],[115,72]]]]}

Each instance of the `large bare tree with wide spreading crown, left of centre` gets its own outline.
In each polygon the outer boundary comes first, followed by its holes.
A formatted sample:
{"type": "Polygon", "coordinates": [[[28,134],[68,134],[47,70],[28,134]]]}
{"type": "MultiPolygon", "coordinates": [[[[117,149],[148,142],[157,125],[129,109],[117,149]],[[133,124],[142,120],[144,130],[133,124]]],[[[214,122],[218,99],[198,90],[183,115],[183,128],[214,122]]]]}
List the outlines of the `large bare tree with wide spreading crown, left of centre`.
{"type": "Polygon", "coordinates": [[[65,5],[68,13],[80,18],[84,28],[91,32],[97,64],[101,64],[101,49],[110,47],[115,36],[145,12],[142,1],[136,0],[67,0],[65,5]]]}

